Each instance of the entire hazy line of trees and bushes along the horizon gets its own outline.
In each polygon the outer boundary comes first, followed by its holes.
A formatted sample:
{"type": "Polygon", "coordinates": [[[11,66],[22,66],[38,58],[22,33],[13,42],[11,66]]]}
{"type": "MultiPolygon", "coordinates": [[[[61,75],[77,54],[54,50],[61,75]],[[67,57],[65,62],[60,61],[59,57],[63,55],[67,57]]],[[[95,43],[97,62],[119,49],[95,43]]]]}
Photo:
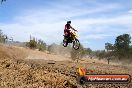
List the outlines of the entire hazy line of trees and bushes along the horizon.
{"type": "MultiPolygon", "coordinates": [[[[9,40],[8,36],[0,30],[0,43],[5,43],[9,40]]],[[[30,40],[26,42],[26,47],[38,49],[39,51],[48,51],[49,53],[68,54],[73,60],[81,59],[85,56],[90,56],[91,58],[96,56],[99,59],[106,58],[108,60],[111,58],[119,60],[132,59],[131,36],[129,34],[117,36],[114,44],[105,43],[105,50],[92,51],[90,48],[84,48],[82,44],[79,50],[74,50],[72,46],[65,48],[62,43],[60,45],[55,43],[47,45],[43,40],[31,36],[30,40]]]]}

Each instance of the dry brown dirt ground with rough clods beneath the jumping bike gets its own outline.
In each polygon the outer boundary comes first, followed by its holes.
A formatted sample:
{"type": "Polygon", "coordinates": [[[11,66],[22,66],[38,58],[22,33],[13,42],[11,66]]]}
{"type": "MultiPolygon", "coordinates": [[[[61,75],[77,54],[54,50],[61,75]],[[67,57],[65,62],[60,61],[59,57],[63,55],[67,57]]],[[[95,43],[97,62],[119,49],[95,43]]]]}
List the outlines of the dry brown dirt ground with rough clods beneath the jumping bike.
{"type": "Polygon", "coordinates": [[[80,62],[30,49],[0,45],[0,88],[132,88],[132,82],[79,85],[76,81],[78,67],[86,68],[87,74],[122,73],[132,76],[131,66],[80,62]]]}

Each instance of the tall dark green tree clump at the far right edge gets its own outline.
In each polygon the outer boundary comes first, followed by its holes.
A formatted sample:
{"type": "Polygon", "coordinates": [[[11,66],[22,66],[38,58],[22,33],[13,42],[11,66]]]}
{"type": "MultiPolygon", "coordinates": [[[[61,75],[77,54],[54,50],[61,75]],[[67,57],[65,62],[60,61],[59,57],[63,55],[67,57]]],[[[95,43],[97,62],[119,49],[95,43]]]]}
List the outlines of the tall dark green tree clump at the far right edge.
{"type": "Polygon", "coordinates": [[[105,49],[111,56],[117,57],[119,60],[123,58],[132,58],[131,36],[129,34],[119,35],[115,39],[115,43],[106,43],[105,49]]]}

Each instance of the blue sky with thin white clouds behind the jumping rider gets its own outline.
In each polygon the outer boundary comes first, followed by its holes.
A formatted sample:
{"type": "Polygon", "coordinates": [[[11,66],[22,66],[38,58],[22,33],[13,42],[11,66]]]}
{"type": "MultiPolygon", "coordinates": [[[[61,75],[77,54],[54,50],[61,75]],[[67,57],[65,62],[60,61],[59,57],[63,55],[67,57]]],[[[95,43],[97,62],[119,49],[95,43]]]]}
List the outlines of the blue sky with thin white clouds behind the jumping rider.
{"type": "Polygon", "coordinates": [[[132,0],[7,0],[0,5],[0,29],[15,41],[32,35],[60,44],[68,20],[85,48],[101,50],[121,34],[132,36],[132,0]]]}

